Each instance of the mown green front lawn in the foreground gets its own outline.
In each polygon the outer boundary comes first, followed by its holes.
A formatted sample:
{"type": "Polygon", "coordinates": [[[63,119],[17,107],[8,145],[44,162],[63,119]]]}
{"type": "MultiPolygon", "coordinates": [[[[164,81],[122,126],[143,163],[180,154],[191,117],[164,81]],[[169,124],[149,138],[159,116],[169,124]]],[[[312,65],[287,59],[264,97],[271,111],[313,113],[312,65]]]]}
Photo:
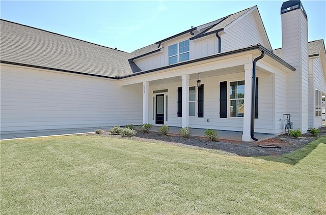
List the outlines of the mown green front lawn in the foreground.
{"type": "Polygon", "coordinates": [[[325,214],[325,142],[275,162],[110,137],[2,141],[1,213],[325,214]]]}

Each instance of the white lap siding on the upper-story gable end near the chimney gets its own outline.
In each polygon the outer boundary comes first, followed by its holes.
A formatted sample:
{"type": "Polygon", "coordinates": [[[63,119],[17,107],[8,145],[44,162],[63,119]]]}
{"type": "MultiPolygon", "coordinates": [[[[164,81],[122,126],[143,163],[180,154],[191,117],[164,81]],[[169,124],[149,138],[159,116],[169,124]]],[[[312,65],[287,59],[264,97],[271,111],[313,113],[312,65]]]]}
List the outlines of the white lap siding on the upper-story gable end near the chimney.
{"type": "MultiPolygon", "coordinates": [[[[244,48],[253,44],[265,45],[253,13],[244,16],[226,30],[222,35],[222,52],[244,48]]],[[[265,47],[268,47],[267,44],[265,47]]]]}

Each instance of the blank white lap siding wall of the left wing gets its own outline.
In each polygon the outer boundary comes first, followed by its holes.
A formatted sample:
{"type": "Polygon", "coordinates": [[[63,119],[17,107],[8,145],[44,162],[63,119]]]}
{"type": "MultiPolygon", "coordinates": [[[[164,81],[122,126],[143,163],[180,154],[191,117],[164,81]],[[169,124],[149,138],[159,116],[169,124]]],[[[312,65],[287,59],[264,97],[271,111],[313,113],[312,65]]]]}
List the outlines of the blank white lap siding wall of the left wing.
{"type": "Polygon", "coordinates": [[[1,66],[1,132],[142,123],[142,85],[1,66]]]}

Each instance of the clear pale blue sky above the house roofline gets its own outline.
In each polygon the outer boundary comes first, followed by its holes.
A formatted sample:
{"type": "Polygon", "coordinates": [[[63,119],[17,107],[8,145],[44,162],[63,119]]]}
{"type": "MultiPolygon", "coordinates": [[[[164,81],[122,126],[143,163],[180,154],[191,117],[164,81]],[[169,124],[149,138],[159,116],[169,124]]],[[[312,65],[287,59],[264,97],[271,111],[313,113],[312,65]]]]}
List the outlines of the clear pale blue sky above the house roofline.
{"type": "MultiPolygon", "coordinates": [[[[284,1],[1,1],[5,20],[132,52],[257,5],[273,49],[282,46],[284,1]]],[[[326,0],[301,1],[309,41],[326,39],[326,0]]]]}

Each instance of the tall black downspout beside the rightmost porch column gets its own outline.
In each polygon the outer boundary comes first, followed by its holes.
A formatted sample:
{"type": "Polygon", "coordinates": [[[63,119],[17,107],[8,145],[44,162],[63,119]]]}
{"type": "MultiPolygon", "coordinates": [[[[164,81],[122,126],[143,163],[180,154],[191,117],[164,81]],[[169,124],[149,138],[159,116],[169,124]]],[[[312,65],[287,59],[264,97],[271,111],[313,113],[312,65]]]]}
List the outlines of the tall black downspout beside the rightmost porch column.
{"type": "Polygon", "coordinates": [[[256,96],[256,63],[258,60],[265,56],[265,51],[261,50],[261,55],[256,57],[253,62],[253,76],[252,76],[252,93],[251,93],[251,121],[250,121],[250,136],[253,140],[257,141],[255,138],[255,96],[256,96]]]}

